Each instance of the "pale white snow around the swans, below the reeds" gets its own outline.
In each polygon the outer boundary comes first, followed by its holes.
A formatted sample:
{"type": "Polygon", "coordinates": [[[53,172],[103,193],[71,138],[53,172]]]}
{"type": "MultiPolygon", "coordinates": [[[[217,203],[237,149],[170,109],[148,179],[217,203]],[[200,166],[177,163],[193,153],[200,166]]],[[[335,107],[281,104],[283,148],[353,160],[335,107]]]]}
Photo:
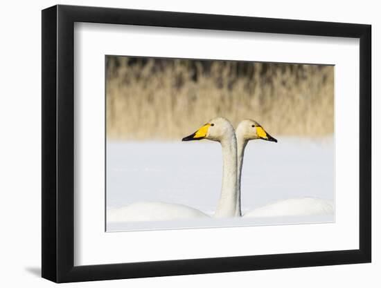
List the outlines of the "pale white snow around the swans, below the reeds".
{"type": "MultiPolygon", "coordinates": [[[[254,140],[242,170],[242,213],[290,198],[334,200],[333,138],[254,140]]],[[[134,202],[183,204],[213,215],[220,196],[220,144],[197,142],[107,142],[107,215],[134,202]]],[[[259,209],[259,210],[258,210],[259,209]]],[[[261,218],[110,222],[107,231],[231,227],[333,222],[334,214],[261,218]]],[[[111,217],[109,217],[111,218],[111,217]]]]}

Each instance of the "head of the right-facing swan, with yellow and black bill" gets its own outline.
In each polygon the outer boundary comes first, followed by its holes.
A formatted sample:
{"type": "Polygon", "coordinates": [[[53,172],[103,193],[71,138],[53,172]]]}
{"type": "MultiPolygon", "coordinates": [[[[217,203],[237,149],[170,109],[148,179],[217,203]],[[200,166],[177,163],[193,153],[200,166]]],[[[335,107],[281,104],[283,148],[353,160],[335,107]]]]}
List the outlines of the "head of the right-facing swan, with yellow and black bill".
{"type": "Polygon", "coordinates": [[[251,119],[242,120],[240,124],[238,124],[236,135],[245,141],[261,139],[278,142],[278,140],[269,135],[258,122],[251,119]]]}

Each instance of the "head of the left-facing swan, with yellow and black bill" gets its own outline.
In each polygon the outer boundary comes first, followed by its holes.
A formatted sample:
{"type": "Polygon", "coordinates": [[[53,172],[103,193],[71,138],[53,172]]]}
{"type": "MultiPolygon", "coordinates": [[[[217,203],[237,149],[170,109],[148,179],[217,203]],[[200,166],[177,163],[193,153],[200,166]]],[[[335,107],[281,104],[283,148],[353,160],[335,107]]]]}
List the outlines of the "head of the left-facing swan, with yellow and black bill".
{"type": "Polygon", "coordinates": [[[234,137],[234,135],[234,128],[229,120],[223,117],[217,117],[204,124],[195,131],[195,133],[184,137],[182,141],[207,139],[222,142],[225,139],[234,137]]]}

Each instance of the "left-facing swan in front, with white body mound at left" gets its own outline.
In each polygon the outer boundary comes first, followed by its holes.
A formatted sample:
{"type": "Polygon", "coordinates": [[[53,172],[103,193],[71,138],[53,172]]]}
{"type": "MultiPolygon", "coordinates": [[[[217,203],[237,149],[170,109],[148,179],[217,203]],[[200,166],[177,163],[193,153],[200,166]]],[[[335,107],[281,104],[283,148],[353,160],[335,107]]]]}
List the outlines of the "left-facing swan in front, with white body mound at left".
{"type": "MultiPolygon", "coordinates": [[[[234,128],[224,118],[206,123],[183,141],[212,140],[221,143],[223,155],[222,189],[215,217],[238,215],[237,200],[237,144],[234,128]]],[[[190,218],[209,218],[202,211],[165,202],[136,202],[127,207],[107,209],[107,222],[166,221],[190,218]]]]}

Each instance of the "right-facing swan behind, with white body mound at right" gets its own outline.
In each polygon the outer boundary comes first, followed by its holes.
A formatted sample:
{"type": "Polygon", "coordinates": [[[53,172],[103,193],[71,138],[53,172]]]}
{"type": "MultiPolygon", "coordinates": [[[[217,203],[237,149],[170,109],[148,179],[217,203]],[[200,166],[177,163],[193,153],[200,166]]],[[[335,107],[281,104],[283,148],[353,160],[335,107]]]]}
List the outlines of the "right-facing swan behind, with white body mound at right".
{"type": "MultiPolygon", "coordinates": [[[[238,155],[238,200],[237,209],[240,209],[240,184],[242,175],[243,157],[245,148],[249,140],[261,139],[271,142],[277,140],[269,135],[258,122],[245,119],[238,124],[236,129],[237,155],[238,155]]],[[[280,200],[264,207],[254,209],[245,213],[244,217],[277,217],[277,216],[296,216],[296,215],[327,215],[333,214],[333,202],[318,198],[292,198],[280,200]]]]}

